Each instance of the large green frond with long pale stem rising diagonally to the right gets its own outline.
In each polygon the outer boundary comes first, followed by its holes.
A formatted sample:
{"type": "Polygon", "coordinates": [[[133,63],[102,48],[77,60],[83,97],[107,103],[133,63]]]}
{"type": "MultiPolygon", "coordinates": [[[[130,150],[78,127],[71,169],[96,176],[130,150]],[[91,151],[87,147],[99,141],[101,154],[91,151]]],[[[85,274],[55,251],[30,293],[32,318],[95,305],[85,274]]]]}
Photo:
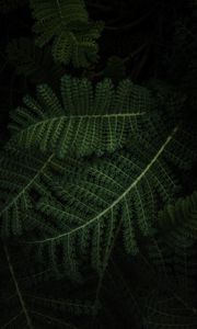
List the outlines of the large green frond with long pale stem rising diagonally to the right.
{"type": "Polygon", "coordinates": [[[147,136],[135,140],[129,151],[96,159],[92,164],[77,161],[72,167],[76,182],[66,175],[65,183],[61,179],[54,185],[51,198],[37,203],[37,209],[51,218],[59,234],[49,236],[42,228],[28,245],[37,247],[43,259],[47,254],[54,266],[61,249],[61,262],[72,276],[80,254],[91,253],[92,265],[102,272],[121,220],[126,251],[136,253],[136,231],[152,235],[158,202],[170,202],[178,189],[167,164],[175,157],[182,166],[184,149],[181,146],[177,155],[173,147],[177,137],[178,127],[174,127],[163,139],[158,136],[148,143],[147,136]]]}

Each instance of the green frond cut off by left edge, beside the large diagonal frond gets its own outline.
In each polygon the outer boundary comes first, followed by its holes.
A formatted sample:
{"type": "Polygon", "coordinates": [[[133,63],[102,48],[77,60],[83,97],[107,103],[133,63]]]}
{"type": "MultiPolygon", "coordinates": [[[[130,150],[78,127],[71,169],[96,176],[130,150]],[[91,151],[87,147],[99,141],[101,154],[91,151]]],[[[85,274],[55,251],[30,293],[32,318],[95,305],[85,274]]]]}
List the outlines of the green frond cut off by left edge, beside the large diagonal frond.
{"type": "Polygon", "coordinates": [[[2,151],[0,159],[1,236],[21,235],[24,230],[36,226],[36,218],[33,220],[31,215],[35,214],[35,200],[50,194],[47,182],[61,170],[63,168],[55,160],[53,154],[43,157],[14,148],[2,151]]]}

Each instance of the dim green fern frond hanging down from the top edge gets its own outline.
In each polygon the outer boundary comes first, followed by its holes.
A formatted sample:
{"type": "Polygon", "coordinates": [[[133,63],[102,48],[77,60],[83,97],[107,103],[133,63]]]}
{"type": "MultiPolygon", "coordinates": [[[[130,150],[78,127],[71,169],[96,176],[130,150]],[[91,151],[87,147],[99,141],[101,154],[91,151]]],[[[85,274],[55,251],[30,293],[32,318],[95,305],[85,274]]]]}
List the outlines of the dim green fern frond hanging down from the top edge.
{"type": "Polygon", "coordinates": [[[58,63],[86,67],[97,58],[96,39],[103,23],[89,21],[83,0],[31,0],[34,31],[40,47],[53,39],[53,56],[58,63]]]}

